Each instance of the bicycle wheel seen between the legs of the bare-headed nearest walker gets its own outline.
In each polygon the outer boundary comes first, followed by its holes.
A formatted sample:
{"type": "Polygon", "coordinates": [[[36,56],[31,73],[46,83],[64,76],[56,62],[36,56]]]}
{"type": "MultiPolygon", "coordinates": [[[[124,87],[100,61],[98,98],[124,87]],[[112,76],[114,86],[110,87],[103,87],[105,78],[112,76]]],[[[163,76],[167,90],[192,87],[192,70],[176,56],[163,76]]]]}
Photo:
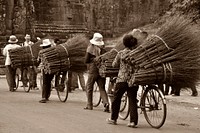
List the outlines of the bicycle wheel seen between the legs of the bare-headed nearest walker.
{"type": "Polygon", "coordinates": [[[119,118],[122,120],[126,120],[129,116],[129,104],[128,104],[128,97],[125,93],[121,99],[120,111],[119,111],[119,118]]]}

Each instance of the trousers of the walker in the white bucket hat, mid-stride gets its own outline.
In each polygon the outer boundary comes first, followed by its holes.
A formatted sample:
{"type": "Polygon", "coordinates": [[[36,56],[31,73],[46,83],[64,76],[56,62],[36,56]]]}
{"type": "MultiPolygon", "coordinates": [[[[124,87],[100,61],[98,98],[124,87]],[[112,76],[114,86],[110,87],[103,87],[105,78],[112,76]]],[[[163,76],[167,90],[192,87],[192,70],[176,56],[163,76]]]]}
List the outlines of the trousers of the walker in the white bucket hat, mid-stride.
{"type": "Polygon", "coordinates": [[[98,74],[89,74],[86,83],[87,107],[93,106],[93,87],[95,82],[97,82],[97,85],[99,87],[100,96],[103,100],[103,104],[108,104],[108,95],[105,90],[106,79],[102,78],[98,74]]]}

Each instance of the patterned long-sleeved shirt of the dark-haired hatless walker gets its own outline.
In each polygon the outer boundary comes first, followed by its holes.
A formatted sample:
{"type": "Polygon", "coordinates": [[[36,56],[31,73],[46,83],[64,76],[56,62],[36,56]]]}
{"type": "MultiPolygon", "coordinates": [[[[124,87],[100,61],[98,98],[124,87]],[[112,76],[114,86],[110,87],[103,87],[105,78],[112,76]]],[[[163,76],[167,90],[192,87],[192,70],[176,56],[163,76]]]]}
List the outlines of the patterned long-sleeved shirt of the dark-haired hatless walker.
{"type": "Polygon", "coordinates": [[[112,63],[113,67],[119,67],[118,77],[116,80],[117,83],[128,82],[128,80],[130,79],[130,76],[131,76],[130,70],[132,70],[132,67],[122,60],[123,56],[126,55],[130,51],[131,50],[128,48],[125,48],[124,50],[119,51],[112,63]]]}

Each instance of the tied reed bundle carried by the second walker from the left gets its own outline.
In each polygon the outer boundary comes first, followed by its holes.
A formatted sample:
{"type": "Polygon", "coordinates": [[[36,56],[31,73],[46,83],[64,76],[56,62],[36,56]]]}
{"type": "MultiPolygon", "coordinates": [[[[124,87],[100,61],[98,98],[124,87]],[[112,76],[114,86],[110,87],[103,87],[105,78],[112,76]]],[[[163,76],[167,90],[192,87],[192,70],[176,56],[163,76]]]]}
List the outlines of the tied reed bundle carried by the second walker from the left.
{"type": "Polygon", "coordinates": [[[84,35],[69,39],[66,43],[44,49],[40,52],[45,73],[56,73],[71,70],[86,71],[84,63],[89,40],[84,35]]]}

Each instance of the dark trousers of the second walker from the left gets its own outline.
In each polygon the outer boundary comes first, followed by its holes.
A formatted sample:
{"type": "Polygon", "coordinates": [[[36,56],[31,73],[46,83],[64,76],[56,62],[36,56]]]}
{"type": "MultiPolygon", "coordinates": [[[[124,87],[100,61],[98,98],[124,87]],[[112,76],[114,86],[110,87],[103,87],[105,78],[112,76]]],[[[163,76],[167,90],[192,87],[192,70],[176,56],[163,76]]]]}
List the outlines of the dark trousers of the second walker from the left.
{"type": "Polygon", "coordinates": [[[43,88],[42,88],[42,98],[48,99],[51,94],[51,81],[54,77],[54,74],[43,74],[43,88]]]}

